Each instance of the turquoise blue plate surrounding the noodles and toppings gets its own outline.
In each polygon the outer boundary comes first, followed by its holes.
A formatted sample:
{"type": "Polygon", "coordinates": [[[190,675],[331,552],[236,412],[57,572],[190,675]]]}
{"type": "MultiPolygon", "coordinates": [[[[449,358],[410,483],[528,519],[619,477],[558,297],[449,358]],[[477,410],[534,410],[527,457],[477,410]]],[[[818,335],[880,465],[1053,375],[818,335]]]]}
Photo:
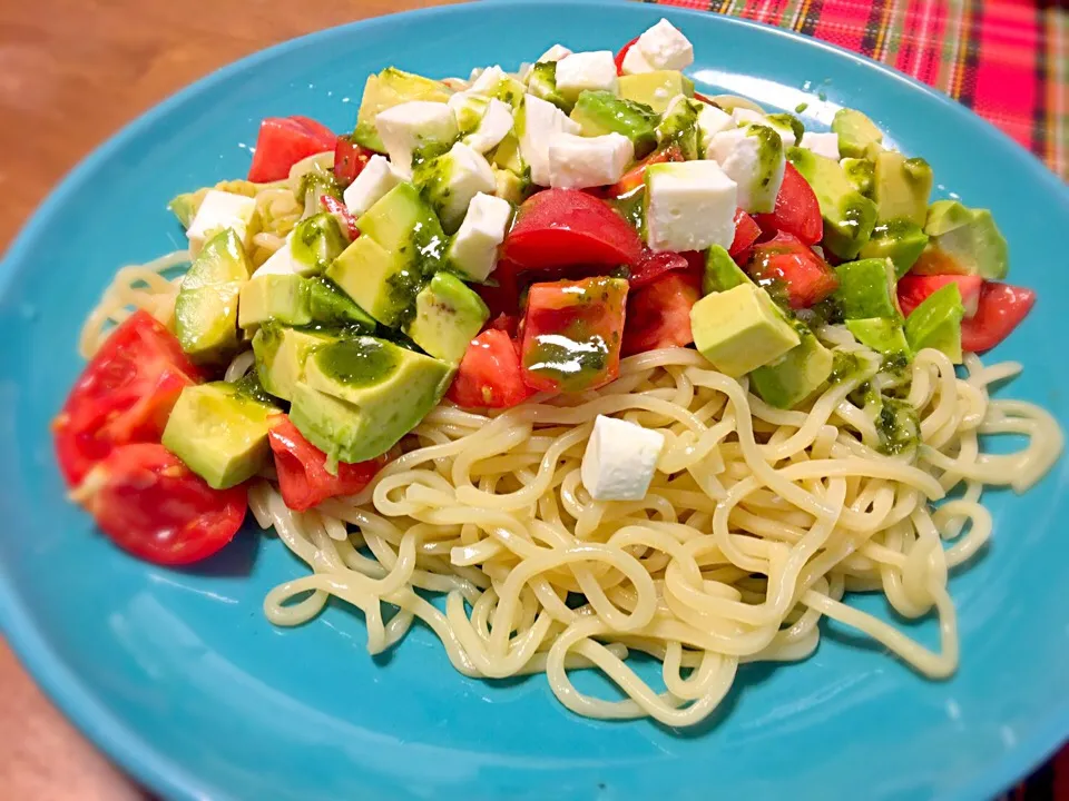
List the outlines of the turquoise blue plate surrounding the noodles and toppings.
{"type": "MultiPolygon", "coordinates": [[[[63,711],[138,779],[178,799],[624,799],[669,793],[803,799],[980,799],[1069,734],[1066,465],[1024,497],[992,493],[996,536],[951,587],[961,670],[930,682],[842,630],[808,661],[751,666],[707,725],[599,723],[541,679],[469,681],[414,631],[370,659],[359,615],[333,607],[272,627],[264,593],[302,575],[247,532],[198,570],[128,558],[66,503],[48,433],[81,364],[78,328],[117,267],[179,246],[165,205],[242,176],[257,123],[308,115],[353,125],[369,72],[467,76],[549,44],[616,49],[669,17],[694,41],[706,92],[735,91],[823,127],[870,113],[935,169],[939,192],[990,207],[1013,279],[1040,301],[998,356],[1011,390],[1069,426],[1069,271],[1051,241],[1066,189],[1031,156],[942,96],[842,50],[712,14],[605,1],[441,8],[292,41],[216,72],[82,164],[0,270],[0,623],[63,711]],[[818,99],[823,96],[825,99],[818,99]]],[[[882,610],[879,597],[860,601],[882,610]]],[[[915,627],[933,643],[931,623],[915,627]]]]}

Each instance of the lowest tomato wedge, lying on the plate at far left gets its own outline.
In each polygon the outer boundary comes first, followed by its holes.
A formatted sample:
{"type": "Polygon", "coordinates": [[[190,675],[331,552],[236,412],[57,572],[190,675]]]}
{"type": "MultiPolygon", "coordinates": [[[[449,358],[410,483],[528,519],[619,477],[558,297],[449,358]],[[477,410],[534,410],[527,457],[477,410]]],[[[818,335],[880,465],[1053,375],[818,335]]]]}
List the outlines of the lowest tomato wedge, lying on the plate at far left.
{"type": "Polygon", "coordinates": [[[119,547],[159,565],[199,562],[245,520],[245,485],[213,490],[163,445],[122,445],[96,465],[77,500],[119,547]]]}

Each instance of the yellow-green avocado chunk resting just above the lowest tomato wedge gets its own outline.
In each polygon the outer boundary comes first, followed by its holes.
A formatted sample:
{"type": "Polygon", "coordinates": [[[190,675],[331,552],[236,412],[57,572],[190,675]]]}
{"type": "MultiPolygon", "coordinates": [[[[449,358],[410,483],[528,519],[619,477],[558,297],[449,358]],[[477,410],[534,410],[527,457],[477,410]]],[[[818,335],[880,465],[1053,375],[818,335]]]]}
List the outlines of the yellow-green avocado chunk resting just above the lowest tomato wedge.
{"type": "Polygon", "coordinates": [[[226,490],[256,475],[268,459],[267,418],[277,412],[234,384],[188,386],[167,418],[161,442],[208,486],[226,490]]]}

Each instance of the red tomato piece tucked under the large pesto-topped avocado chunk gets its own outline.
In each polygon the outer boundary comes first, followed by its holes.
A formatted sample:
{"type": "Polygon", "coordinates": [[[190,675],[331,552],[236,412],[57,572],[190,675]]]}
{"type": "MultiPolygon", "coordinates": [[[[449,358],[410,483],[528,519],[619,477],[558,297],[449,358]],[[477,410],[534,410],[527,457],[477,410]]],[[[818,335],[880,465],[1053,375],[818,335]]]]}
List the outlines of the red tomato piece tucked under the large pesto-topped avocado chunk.
{"type": "Polygon", "coordinates": [[[286,506],[304,512],[328,497],[354,495],[375,477],[385,456],[349,464],[337,463],[337,474],[326,469],[326,454],[310,443],[286,415],[271,418],[267,441],[275,454],[278,490],[286,506]]]}

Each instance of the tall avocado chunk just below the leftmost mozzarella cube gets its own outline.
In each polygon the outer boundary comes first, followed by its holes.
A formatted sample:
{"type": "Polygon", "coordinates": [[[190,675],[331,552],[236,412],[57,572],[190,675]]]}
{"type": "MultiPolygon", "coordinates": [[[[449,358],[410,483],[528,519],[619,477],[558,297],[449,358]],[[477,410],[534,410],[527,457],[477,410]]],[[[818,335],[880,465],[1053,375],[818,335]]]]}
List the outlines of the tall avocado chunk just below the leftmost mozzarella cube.
{"type": "Polygon", "coordinates": [[[198,364],[225,362],[237,349],[237,300],[252,263],[233,229],[205,243],[175,299],[175,334],[198,364]]]}

